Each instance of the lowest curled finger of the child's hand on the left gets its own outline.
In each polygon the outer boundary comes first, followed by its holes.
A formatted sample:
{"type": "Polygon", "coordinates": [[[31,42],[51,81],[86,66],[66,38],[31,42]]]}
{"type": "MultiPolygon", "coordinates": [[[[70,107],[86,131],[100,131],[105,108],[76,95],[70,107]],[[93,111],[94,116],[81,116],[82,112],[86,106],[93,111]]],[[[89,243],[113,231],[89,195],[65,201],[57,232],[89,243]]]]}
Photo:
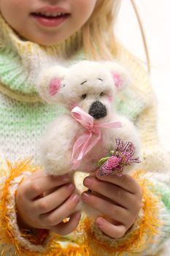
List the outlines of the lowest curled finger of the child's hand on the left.
{"type": "Polygon", "coordinates": [[[72,233],[80,222],[81,214],[80,212],[75,212],[70,216],[69,222],[59,223],[57,226],[53,227],[51,230],[60,236],[66,236],[72,233]]]}

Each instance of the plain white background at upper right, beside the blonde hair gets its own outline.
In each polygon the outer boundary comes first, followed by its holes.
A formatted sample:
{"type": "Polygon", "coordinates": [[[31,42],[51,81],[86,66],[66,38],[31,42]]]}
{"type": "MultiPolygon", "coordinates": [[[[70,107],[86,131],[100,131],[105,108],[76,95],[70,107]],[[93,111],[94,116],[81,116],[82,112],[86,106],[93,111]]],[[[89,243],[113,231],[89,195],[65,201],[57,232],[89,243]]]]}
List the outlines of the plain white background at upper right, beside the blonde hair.
{"type": "MultiPolygon", "coordinates": [[[[151,59],[150,80],[158,98],[158,134],[170,151],[170,0],[136,0],[151,59]]],[[[130,0],[122,0],[118,38],[146,62],[139,25],[130,0]]]]}

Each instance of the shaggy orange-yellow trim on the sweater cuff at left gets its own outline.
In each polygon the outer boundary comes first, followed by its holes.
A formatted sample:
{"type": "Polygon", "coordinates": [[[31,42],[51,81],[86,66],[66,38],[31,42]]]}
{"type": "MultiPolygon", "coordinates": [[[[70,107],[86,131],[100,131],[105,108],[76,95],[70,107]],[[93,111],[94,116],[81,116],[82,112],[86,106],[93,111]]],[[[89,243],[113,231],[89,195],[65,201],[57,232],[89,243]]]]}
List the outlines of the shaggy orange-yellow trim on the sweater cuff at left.
{"type": "MultiPolygon", "coordinates": [[[[49,241],[47,249],[44,252],[30,252],[28,249],[20,246],[19,241],[15,238],[12,233],[12,227],[9,225],[9,218],[7,217],[7,204],[9,204],[9,187],[14,178],[20,176],[23,172],[29,171],[34,173],[37,169],[32,167],[28,160],[20,162],[15,166],[12,166],[7,162],[9,168],[9,174],[7,175],[7,170],[0,170],[1,177],[6,176],[6,181],[1,185],[1,192],[3,195],[0,197],[0,244],[1,246],[1,256],[7,255],[44,255],[44,256],[89,256],[88,248],[84,245],[82,246],[65,246],[64,248],[58,244],[58,241],[66,241],[66,239],[60,236],[53,235],[49,241]],[[14,252],[15,250],[15,252],[14,252]]],[[[26,233],[23,234],[24,238],[27,238],[26,233]]],[[[28,235],[28,240],[30,235],[28,235]]]]}

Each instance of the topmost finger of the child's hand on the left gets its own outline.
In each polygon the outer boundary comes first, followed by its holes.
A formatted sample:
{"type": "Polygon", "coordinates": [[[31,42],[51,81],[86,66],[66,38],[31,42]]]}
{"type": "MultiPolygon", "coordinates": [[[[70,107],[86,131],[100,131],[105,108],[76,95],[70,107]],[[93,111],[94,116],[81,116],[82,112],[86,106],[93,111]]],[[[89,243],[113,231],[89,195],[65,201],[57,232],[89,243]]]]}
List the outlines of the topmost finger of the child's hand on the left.
{"type": "Polygon", "coordinates": [[[62,178],[51,178],[50,176],[42,176],[36,180],[30,180],[27,178],[20,184],[18,189],[22,190],[22,194],[26,196],[28,200],[34,200],[34,198],[42,195],[43,192],[59,187],[69,182],[69,176],[63,176],[62,178]]]}

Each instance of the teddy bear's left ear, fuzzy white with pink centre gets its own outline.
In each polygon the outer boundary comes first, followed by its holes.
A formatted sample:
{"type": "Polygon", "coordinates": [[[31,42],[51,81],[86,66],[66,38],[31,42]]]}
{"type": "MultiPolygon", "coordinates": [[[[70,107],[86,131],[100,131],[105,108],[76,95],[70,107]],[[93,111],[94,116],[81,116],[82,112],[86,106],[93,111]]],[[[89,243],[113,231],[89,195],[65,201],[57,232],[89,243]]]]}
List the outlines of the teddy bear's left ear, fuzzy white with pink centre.
{"type": "Polygon", "coordinates": [[[61,66],[43,70],[39,75],[37,89],[40,96],[50,104],[61,103],[63,100],[62,87],[67,69],[61,66]]]}

